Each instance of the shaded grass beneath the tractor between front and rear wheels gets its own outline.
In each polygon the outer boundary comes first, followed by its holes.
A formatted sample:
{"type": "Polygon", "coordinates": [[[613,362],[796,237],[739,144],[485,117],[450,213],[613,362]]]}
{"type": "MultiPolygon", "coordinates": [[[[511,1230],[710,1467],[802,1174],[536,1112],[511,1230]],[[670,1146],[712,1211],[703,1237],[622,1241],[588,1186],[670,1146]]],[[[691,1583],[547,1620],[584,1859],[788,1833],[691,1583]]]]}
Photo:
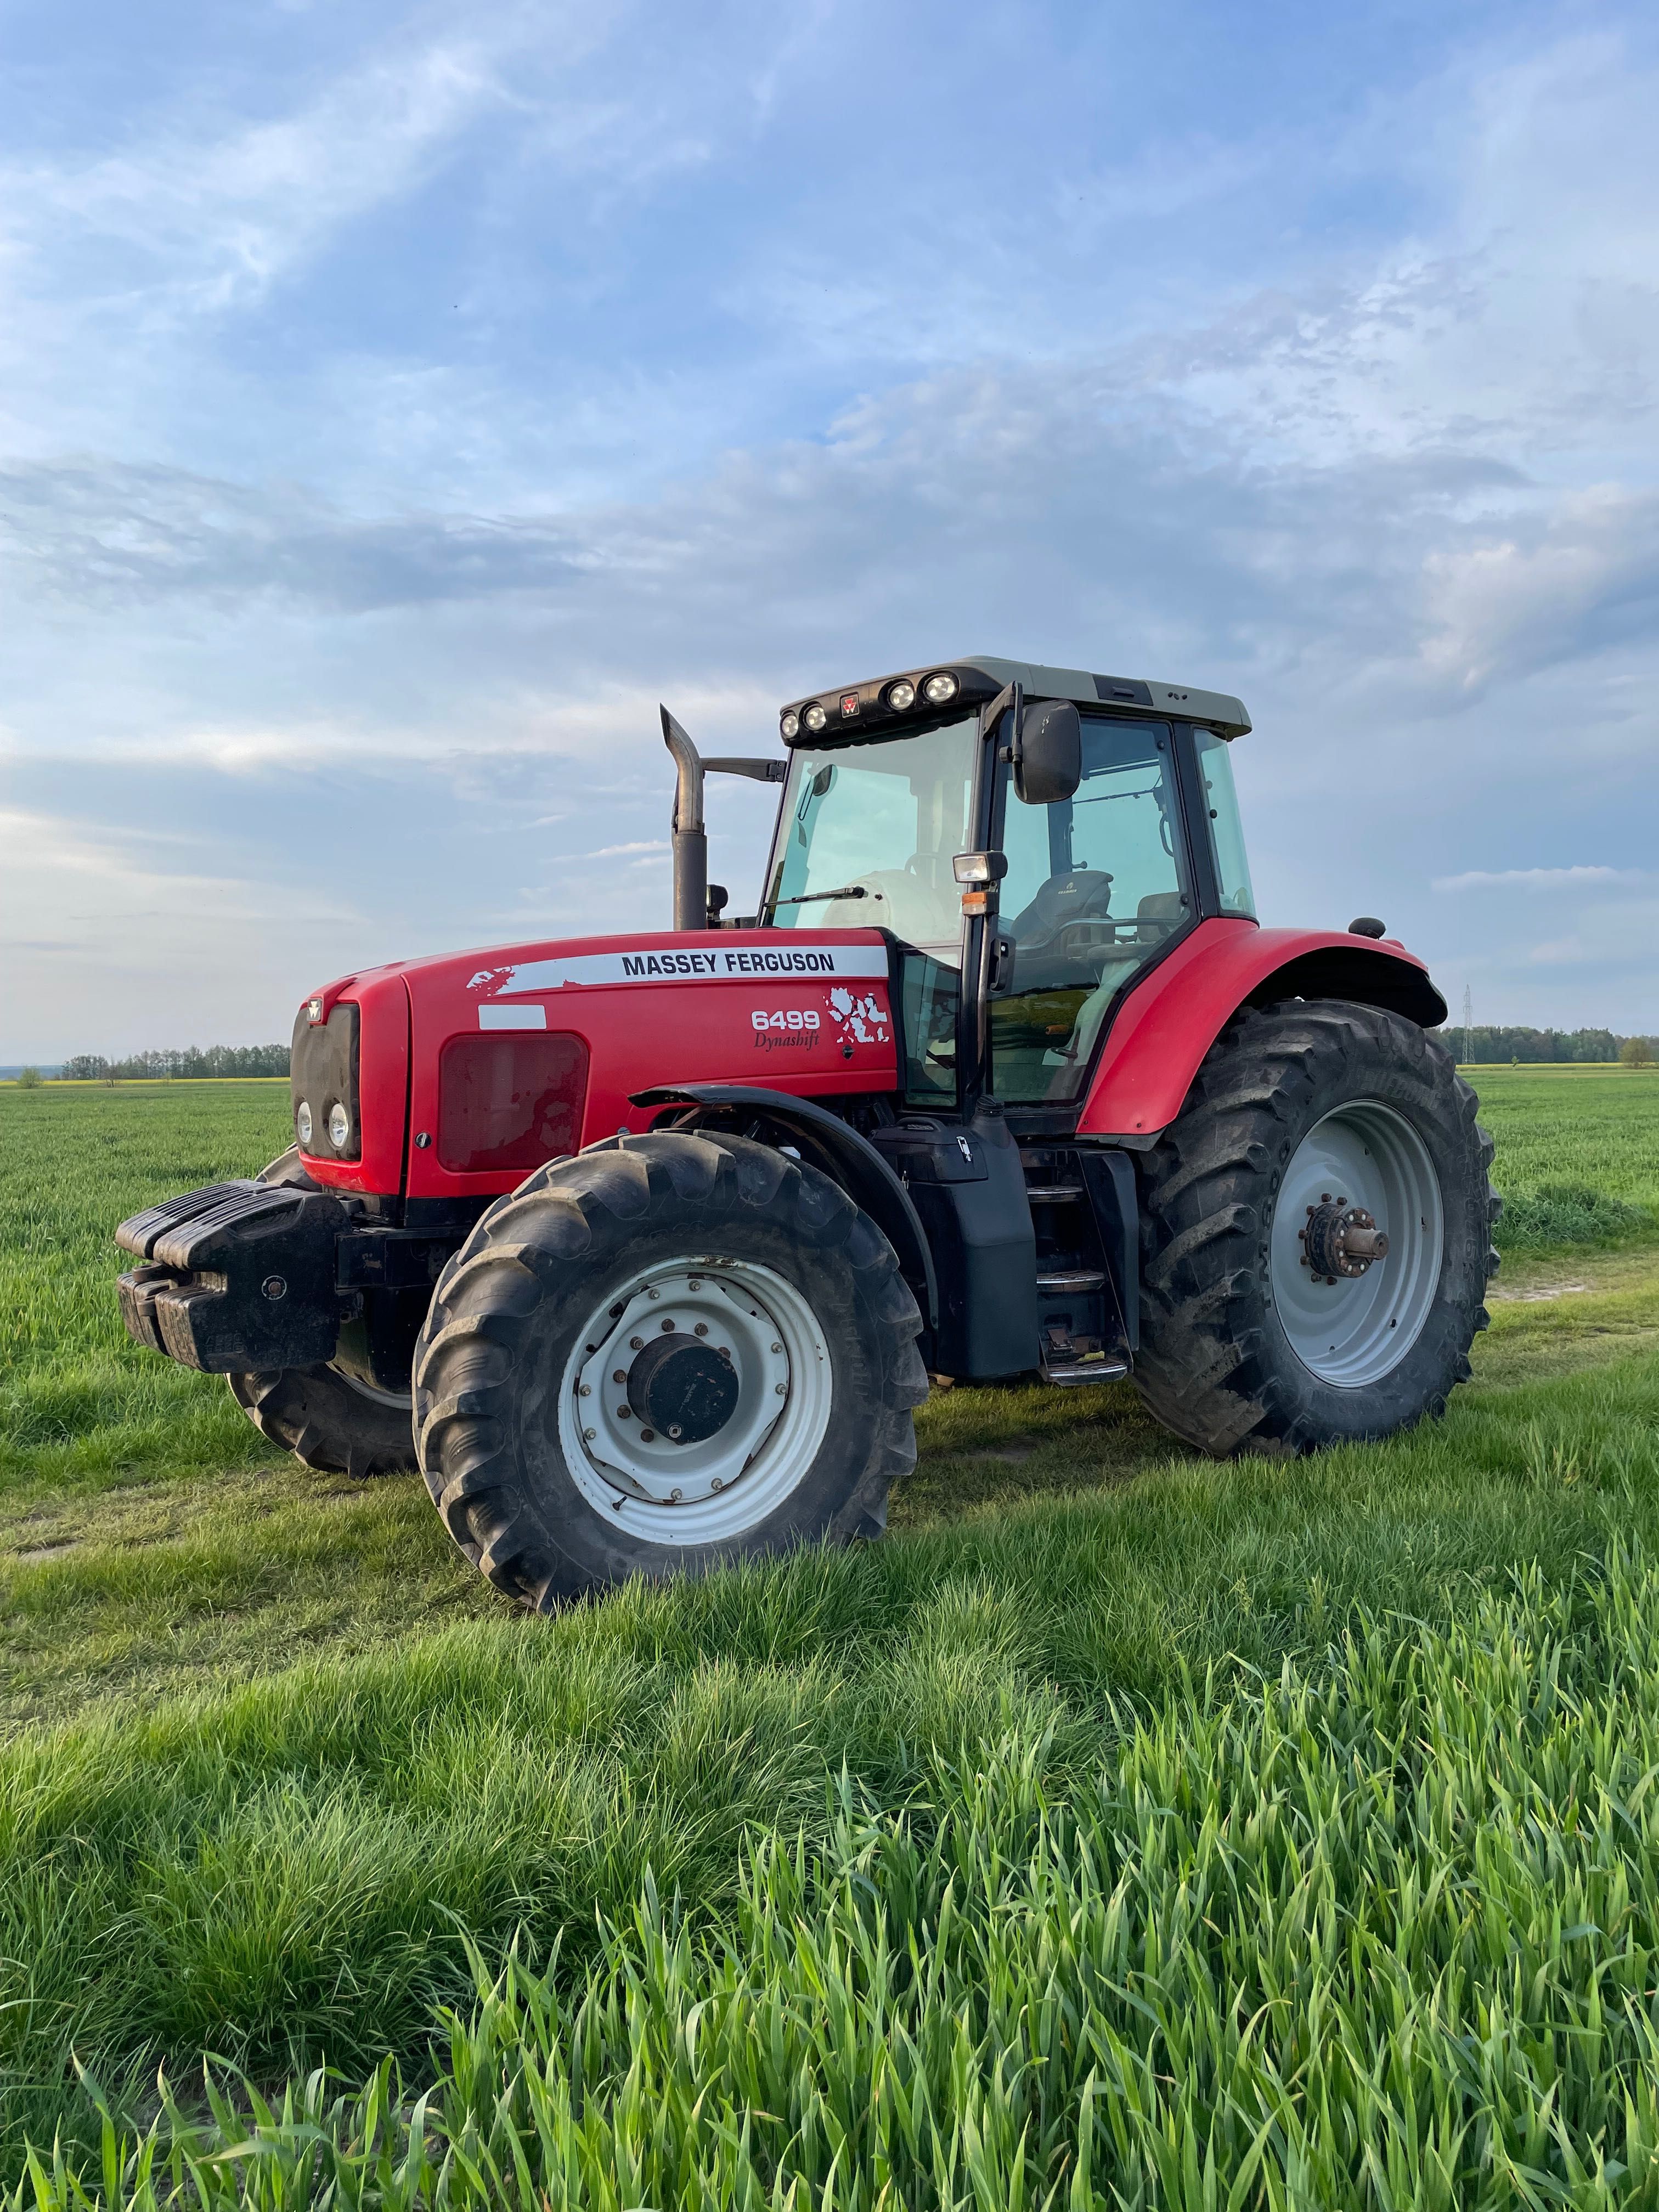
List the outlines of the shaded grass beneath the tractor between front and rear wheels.
{"type": "Polygon", "coordinates": [[[894,1486],[889,1526],[927,1528],[975,1506],[1099,1491],[1183,1447],[1141,1407],[1130,1383],[933,1385],[916,1413],[916,1473],[894,1486]]]}

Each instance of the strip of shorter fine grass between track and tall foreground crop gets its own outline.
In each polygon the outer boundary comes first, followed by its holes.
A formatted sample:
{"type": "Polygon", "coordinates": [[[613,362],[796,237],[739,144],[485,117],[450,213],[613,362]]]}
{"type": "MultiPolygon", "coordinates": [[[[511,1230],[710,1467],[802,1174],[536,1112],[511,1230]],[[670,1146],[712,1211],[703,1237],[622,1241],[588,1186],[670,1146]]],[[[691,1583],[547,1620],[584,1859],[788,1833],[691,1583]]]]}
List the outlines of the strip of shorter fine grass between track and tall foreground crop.
{"type": "MultiPolygon", "coordinates": [[[[1659,1551],[1659,1358],[1464,1407],[1316,1462],[1177,1462],[1137,1484],[487,1619],[0,1750],[9,2139],[86,2139],[75,2059],[122,2108],[204,2051],[274,2081],[416,2073],[467,1938],[498,1958],[690,1920],[745,1836],[821,1834],[825,1776],[898,1814],[1009,1730],[1075,1787],[1130,1712],[1310,1666],[1360,1608],[1451,1626],[1528,1562],[1568,1586],[1659,1551]]],[[[1416,1630],[1396,1628],[1413,1641],[1416,1630]]],[[[1455,1807],[1453,1807],[1455,1812],[1455,1807]]]]}

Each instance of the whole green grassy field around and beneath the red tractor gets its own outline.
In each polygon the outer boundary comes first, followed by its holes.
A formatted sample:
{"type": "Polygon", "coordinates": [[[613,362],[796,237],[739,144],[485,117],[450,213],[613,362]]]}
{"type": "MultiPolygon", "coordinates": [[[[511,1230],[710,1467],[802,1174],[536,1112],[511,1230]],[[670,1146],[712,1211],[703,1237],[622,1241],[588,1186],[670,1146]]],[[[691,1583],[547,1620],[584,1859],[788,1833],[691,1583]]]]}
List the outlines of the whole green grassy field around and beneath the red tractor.
{"type": "Polygon", "coordinates": [[[958,1389],[889,1544],[549,1621],[119,1336],[111,1223],[283,1086],[0,1088],[0,2172],[100,2168],[80,2059],[208,2201],[1650,2201],[1659,1079],[1478,1079],[1438,1429],[958,1389]],[[217,2159],[204,2051],[409,2086],[217,2159]]]}

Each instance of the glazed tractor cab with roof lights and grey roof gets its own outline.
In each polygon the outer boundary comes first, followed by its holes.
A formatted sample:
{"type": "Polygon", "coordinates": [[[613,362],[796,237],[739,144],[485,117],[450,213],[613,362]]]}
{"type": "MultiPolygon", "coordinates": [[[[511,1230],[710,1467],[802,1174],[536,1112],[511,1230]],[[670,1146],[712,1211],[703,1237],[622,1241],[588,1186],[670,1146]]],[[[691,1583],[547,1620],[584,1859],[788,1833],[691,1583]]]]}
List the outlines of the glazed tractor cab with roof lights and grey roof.
{"type": "Polygon", "coordinates": [[[909,1106],[1073,1106],[1113,1009],[1254,922],[1239,699],[962,659],[792,701],[759,925],[898,940],[909,1106]]]}

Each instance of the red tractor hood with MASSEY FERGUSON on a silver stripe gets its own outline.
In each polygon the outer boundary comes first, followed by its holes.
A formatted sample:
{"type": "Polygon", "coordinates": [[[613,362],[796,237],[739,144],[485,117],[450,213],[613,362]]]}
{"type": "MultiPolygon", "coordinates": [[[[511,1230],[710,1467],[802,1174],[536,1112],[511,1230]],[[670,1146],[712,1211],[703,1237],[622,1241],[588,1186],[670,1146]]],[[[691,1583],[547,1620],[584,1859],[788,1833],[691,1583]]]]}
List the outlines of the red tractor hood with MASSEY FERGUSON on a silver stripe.
{"type": "Polygon", "coordinates": [[[345,1190],[513,1190],[544,1159],[646,1128],[630,1093],[692,1082],[894,1091],[887,940],[710,929],[507,945],[345,978],[312,993],[294,1029],[301,1152],[345,1190]],[[352,1104],[338,1148],[336,1097],[352,1104]]]}

